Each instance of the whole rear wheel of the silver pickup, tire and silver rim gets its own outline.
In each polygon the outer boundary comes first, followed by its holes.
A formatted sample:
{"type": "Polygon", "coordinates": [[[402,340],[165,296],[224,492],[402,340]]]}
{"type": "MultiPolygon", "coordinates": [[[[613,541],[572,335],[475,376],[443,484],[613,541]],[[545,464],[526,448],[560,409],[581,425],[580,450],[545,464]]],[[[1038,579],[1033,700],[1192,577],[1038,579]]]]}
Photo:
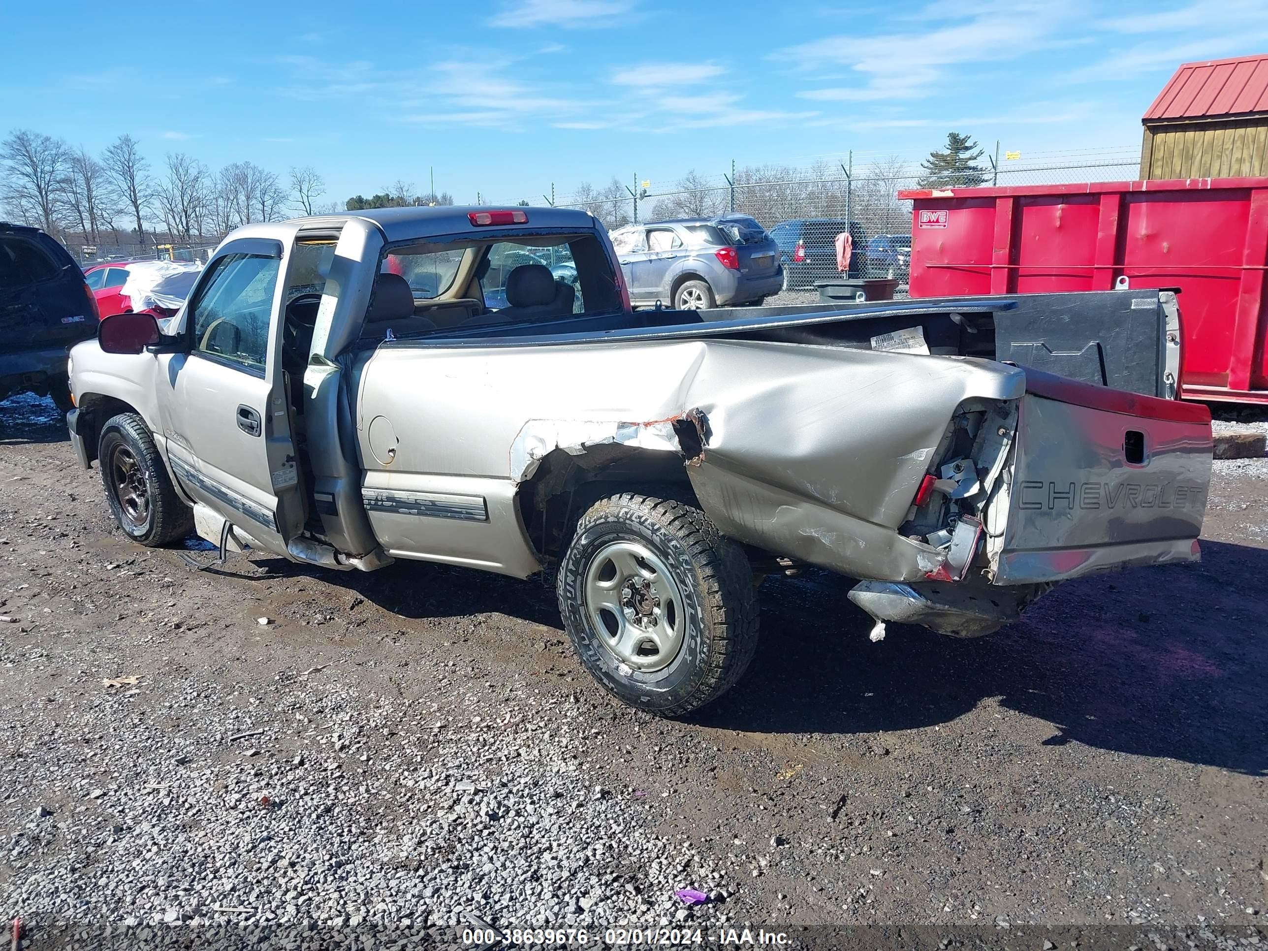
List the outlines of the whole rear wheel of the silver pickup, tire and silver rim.
{"type": "Polygon", "coordinates": [[[581,517],[559,566],[564,628],[623,702],[681,716],[716,700],[757,648],[743,549],[699,508],[624,493],[581,517]]]}

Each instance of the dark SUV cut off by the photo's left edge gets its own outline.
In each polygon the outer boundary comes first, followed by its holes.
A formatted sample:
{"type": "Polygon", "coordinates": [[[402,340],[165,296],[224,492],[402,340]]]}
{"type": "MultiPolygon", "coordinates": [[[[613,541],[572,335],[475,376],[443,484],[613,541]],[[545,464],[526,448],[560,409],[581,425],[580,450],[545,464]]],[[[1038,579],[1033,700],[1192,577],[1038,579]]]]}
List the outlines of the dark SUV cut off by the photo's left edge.
{"type": "Polygon", "coordinates": [[[0,222],[0,399],[51,396],[70,410],[66,351],[96,336],[84,271],[39,228],[0,222]]]}

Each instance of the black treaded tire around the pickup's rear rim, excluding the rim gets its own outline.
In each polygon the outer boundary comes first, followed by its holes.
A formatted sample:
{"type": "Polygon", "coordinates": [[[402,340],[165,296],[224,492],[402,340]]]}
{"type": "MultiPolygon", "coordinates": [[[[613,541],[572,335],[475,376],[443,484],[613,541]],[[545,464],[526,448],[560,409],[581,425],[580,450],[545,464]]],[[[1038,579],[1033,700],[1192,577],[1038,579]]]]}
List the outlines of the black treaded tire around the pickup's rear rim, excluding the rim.
{"type": "Polygon", "coordinates": [[[555,593],[573,648],[595,680],[623,702],[658,716],[682,716],[716,700],[741,678],[757,649],[748,558],[708,515],[676,500],[626,492],[595,502],[560,560],[555,593]],[[598,640],[586,610],[590,563],[620,540],[659,557],[681,592],[683,640],[664,670],[644,673],[621,664],[598,640]]]}

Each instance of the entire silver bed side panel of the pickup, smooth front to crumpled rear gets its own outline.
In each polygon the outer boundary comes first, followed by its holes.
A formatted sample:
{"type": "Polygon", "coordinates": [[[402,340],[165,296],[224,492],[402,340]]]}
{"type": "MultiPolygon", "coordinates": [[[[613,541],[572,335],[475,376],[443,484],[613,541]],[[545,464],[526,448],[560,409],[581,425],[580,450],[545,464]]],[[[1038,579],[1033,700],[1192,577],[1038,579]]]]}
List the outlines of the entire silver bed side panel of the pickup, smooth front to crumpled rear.
{"type": "Polygon", "coordinates": [[[519,483],[557,448],[682,453],[691,432],[675,422],[699,410],[705,444],[686,446],[687,472],[723,531],[858,577],[905,579],[936,567],[932,549],[895,530],[955,407],[1014,398],[1022,385],[998,364],[801,344],[394,346],[364,365],[356,418],[370,479],[384,467],[368,425],[388,416],[394,473],[519,483]]]}

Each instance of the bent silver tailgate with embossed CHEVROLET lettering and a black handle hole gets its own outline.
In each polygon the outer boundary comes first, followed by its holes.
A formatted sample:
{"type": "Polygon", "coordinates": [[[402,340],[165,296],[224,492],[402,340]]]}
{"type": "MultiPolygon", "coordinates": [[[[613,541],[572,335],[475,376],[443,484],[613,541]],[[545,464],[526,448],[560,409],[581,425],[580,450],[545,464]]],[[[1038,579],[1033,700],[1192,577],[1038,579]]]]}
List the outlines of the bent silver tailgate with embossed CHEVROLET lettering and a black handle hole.
{"type": "MultiPolygon", "coordinates": [[[[1205,406],[1026,370],[995,583],[1198,558],[1211,478],[1205,406]]],[[[999,501],[1003,501],[1002,498],[999,501]]]]}

